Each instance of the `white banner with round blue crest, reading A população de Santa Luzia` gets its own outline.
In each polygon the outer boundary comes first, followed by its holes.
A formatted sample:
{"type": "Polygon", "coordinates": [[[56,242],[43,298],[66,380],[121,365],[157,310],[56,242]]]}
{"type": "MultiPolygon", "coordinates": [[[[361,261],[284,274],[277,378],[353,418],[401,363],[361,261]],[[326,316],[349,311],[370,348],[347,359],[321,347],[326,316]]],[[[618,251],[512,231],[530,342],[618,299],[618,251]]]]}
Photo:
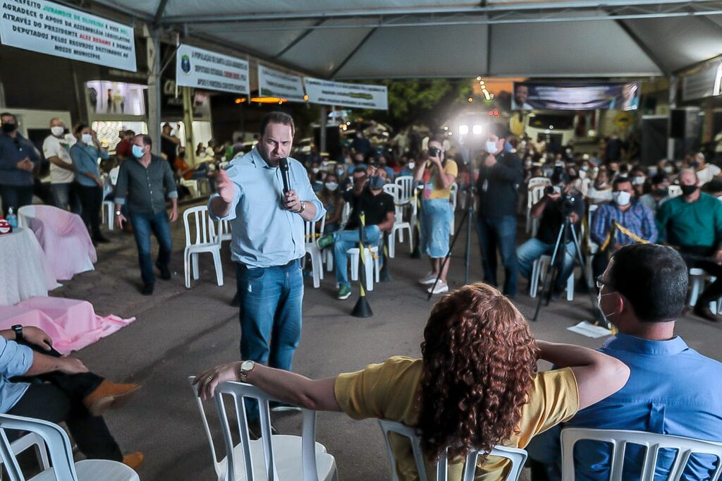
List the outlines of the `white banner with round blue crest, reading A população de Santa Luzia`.
{"type": "Polygon", "coordinates": [[[175,83],[183,87],[248,94],[248,62],[180,45],[175,52],[175,83]]]}

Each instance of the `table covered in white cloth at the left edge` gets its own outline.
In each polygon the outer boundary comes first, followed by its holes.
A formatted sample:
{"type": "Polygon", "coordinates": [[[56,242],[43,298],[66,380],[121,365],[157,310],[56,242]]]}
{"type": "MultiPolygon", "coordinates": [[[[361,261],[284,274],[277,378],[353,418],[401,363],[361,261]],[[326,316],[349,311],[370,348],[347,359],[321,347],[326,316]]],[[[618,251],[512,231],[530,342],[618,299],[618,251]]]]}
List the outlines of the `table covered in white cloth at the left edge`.
{"type": "Polygon", "coordinates": [[[58,287],[57,277],[30,229],[0,235],[0,304],[17,304],[58,287]]]}

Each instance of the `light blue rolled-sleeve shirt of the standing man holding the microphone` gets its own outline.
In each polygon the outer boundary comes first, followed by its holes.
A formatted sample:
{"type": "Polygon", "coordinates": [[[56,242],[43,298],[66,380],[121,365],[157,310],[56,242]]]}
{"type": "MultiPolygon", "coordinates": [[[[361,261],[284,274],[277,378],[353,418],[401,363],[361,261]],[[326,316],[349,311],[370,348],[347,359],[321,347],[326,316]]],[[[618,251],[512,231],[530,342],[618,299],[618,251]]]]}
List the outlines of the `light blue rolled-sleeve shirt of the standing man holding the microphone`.
{"type": "MultiPolygon", "coordinates": [[[[298,199],[316,206],[316,217],[321,220],[326,209],[313,192],[308,173],[295,159],[288,159],[290,188],[298,199]]],[[[226,169],[235,186],[235,199],[230,213],[232,228],[231,259],[248,267],[282,266],[300,259],[305,254],[303,217],[283,209],[283,179],[281,169],[271,167],[253,149],[243,157],[236,157],[226,169]]],[[[218,220],[208,201],[211,217],[218,220]]]]}

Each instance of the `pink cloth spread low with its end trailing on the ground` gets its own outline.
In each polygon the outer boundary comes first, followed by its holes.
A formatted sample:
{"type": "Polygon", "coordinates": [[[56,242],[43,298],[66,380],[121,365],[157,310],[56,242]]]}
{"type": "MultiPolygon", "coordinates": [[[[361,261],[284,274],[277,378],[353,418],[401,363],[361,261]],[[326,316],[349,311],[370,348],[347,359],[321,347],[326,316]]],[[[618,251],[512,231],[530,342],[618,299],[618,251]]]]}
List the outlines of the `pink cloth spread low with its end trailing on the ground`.
{"type": "Polygon", "coordinates": [[[87,300],[38,297],[16,306],[0,306],[0,329],[14,324],[40,327],[63,354],[91,345],[133,321],[134,317],[97,316],[87,300]]]}

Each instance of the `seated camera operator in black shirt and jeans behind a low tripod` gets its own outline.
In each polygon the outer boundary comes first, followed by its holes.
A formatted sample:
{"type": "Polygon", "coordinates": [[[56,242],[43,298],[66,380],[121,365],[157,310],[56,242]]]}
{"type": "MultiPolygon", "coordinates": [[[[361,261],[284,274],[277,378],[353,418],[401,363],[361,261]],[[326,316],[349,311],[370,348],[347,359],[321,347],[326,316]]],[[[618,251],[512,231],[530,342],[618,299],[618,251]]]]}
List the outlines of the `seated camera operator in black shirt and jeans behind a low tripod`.
{"type": "MultiPolygon", "coordinates": [[[[531,217],[541,218],[536,238],[529,239],[516,250],[519,273],[529,279],[529,282],[531,282],[531,266],[534,261],[544,254],[551,256],[554,253],[554,246],[565,217],[569,217],[570,225],[579,238],[580,220],[586,208],[582,195],[573,190],[572,183],[569,182],[562,168],[554,168],[551,181],[552,185],[544,190],[541,200],[531,207],[531,217]]],[[[574,269],[575,246],[572,236],[568,235],[565,240],[567,241],[564,246],[565,255],[557,254],[557,260],[560,262],[557,266],[559,274],[552,287],[552,297],[555,299],[564,292],[567,279],[574,269]]]]}

